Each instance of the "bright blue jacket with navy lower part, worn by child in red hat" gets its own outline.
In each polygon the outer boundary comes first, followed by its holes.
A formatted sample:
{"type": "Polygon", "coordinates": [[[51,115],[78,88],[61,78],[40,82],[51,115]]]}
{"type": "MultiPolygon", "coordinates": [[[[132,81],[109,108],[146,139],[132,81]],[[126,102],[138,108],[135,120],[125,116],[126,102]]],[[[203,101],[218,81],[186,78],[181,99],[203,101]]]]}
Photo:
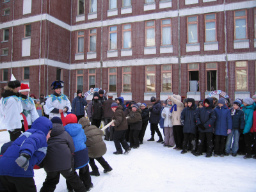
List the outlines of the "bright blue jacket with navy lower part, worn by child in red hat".
{"type": "Polygon", "coordinates": [[[75,169],[83,168],[89,163],[88,148],[85,145],[86,136],[82,125],[80,124],[68,124],[65,126],[67,131],[74,141],[75,152],[74,152],[74,167],[75,169]]]}

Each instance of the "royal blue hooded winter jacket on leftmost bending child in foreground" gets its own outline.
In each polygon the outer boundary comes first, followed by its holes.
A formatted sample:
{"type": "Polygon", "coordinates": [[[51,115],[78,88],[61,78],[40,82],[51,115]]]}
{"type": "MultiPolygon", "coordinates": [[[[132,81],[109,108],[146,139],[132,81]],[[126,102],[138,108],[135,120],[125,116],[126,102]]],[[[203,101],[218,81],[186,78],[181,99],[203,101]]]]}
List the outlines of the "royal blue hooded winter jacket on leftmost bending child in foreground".
{"type": "Polygon", "coordinates": [[[6,150],[0,159],[0,175],[12,177],[34,177],[35,164],[41,163],[47,151],[46,136],[52,129],[52,122],[45,116],[40,116],[33,122],[31,129],[22,133],[12,146],[6,150]],[[15,160],[20,154],[26,153],[29,159],[28,170],[21,168],[15,160]]]}

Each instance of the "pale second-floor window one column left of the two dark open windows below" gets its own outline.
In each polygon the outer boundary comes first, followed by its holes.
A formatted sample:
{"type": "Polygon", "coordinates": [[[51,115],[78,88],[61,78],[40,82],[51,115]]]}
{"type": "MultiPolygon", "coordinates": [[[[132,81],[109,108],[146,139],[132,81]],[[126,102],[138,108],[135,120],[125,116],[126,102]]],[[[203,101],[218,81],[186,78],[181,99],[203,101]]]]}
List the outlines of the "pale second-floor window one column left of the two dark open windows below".
{"type": "Polygon", "coordinates": [[[171,19],[161,20],[161,45],[171,45],[172,44],[172,23],[171,19]]]}

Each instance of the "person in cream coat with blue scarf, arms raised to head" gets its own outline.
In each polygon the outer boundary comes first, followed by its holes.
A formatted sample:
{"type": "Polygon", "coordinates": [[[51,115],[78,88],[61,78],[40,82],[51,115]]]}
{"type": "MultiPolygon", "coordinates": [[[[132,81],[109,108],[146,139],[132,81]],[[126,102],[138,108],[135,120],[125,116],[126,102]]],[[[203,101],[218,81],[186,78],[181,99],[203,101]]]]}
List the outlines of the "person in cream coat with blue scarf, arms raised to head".
{"type": "Polygon", "coordinates": [[[183,142],[183,129],[180,122],[180,114],[184,109],[184,104],[181,102],[180,95],[170,95],[168,99],[172,100],[172,125],[173,125],[173,136],[176,147],[173,149],[181,150],[183,142]]]}

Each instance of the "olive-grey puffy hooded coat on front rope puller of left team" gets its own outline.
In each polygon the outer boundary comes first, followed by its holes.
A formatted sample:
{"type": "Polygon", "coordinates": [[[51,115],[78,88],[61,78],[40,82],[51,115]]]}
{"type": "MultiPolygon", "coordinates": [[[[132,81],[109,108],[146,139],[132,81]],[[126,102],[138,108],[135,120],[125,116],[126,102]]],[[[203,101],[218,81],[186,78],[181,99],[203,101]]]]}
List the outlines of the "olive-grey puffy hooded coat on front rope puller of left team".
{"type": "Polygon", "coordinates": [[[107,152],[107,147],[102,140],[103,131],[101,131],[95,125],[91,125],[87,118],[82,117],[79,120],[79,124],[82,125],[84,129],[84,134],[86,135],[86,147],[89,151],[89,157],[97,158],[104,156],[107,152]]]}

